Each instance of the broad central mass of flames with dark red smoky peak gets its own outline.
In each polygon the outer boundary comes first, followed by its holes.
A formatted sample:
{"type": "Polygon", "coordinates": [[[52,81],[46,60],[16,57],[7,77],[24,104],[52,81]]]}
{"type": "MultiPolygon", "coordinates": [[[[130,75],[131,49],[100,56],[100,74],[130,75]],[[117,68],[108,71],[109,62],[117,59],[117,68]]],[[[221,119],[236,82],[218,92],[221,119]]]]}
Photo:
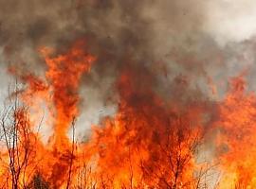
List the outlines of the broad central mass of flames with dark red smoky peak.
{"type": "Polygon", "coordinates": [[[200,109],[182,115],[166,109],[147,86],[137,91],[135,77],[123,71],[119,112],[95,130],[89,143],[98,154],[95,171],[104,184],[98,188],[192,188],[200,109]]]}

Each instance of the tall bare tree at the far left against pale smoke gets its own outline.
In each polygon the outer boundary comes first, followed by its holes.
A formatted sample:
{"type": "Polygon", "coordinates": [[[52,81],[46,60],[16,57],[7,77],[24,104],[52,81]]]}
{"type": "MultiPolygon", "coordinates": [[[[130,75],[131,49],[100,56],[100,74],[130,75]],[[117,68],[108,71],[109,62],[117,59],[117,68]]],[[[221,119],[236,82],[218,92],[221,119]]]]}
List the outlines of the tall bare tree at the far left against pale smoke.
{"type": "Polygon", "coordinates": [[[18,100],[17,87],[14,93],[9,93],[9,106],[2,112],[0,127],[1,144],[4,145],[4,151],[6,149],[2,159],[3,164],[6,163],[4,187],[27,188],[30,180],[27,167],[32,163],[36,137],[29,125],[27,107],[18,100]]]}

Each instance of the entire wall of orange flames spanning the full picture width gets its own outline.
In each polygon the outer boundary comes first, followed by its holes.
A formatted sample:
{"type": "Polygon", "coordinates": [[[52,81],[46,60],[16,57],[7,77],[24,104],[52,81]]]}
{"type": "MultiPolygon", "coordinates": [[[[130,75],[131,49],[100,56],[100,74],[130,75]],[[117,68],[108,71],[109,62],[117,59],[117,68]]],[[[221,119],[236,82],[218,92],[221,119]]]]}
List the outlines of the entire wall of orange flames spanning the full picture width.
{"type": "Polygon", "coordinates": [[[10,96],[14,106],[2,119],[6,147],[1,149],[0,180],[4,188],[38,188],[38,184],[86,189],[210,187],[211,182],[203,179],[208,177],[208,166],[198,163],[209,127],[219,131],[218,153],[212,162],[220,162],[222,177],[214,187],[256,187],[256,95],[246,92],[243,76],[231,80],[229,93],[216,105],[218,116],[212,124],[205,101],[194,99],[184,105],[164,100],[153,88],[155,72],[127,62],[115,83],[118,111],[92,126],[86,142],[77,142],[79,87],[96,58],[86,52],[83,41],[61,55],[47,48],[40,52],[46,63],[44,76],[10,68],[26,87],[10,96]],[[52,129],[46,142],[36,127],[43,107],[47,115],[41,124],[52,129]]]}

